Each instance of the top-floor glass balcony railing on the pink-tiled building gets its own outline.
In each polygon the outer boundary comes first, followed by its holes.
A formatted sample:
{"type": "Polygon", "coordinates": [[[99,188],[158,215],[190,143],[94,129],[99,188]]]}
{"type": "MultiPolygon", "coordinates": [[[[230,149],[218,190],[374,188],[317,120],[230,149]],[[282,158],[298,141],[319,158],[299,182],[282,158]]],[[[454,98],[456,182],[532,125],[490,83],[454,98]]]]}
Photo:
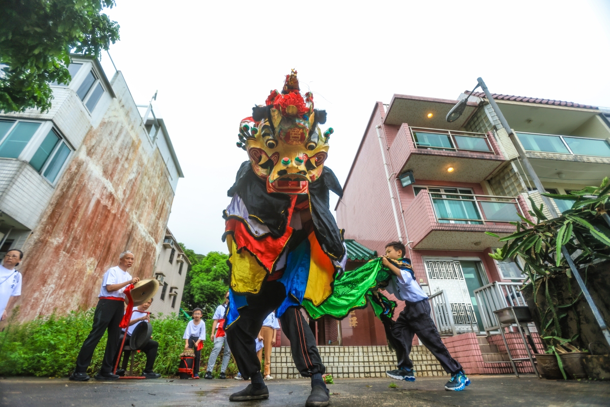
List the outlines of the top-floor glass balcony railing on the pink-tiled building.
{"type": "Polygon", "coordinates": [[[417,148],[443,149],[450,151],[478,151],[493,154],[492,146],[485,133],[449,131],[410,127],[413,142],[417,148]]]}

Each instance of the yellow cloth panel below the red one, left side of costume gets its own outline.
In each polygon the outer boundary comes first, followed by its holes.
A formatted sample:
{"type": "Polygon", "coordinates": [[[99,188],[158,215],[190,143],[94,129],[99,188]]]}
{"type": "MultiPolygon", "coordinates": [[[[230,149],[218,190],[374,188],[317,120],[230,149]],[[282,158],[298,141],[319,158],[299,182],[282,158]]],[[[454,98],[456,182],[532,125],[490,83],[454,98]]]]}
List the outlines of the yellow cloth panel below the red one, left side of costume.
{"type": "Polygon", "coordinates": [[[265,269],[256,261],[248,250],[237,253],[237,245],[231,235],[227,236],[229,262],[231,262],[231,289],[235,292],[256,294],[267,275],[265,269]]]}

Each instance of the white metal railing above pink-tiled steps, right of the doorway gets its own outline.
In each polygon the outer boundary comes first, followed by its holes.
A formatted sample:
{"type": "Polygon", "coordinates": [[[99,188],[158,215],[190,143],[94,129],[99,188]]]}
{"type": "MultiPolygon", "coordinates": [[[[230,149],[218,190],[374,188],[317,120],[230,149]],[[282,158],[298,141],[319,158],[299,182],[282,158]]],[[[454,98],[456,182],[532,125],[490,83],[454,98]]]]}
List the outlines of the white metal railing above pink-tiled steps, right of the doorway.
{"type": "Polygon", "coordinates": [[[483,328],[488,334],[490,331],[500,330],[500,322],[493,311],[509,306],[527,306],[525,298],[519,291],[522,285],[496,281],[474,290],[483,328]]]}

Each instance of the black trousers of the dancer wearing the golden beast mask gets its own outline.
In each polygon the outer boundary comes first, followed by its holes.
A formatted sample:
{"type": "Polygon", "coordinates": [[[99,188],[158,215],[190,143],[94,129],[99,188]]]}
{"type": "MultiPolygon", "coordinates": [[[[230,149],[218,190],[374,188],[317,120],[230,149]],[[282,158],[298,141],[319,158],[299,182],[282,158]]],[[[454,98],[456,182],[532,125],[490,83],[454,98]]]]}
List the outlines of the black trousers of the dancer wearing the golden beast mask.
{"type": "MultiPolygon", "coordinates": [[[[279,281],[265,281],[259,294],[248,295],[248,306],[239,309],[239,318],[226,330],[229,348],[244,379],[260,372],[260,361],[256,356],[254,339],[258,336],[263,321],[284,301],[286,289],[279,281]]],[[[279,318],[282,332],[290,340],[292,359],[301,376],[325,373],[315,336],[297,307],[290,307],[279,318]]]]}

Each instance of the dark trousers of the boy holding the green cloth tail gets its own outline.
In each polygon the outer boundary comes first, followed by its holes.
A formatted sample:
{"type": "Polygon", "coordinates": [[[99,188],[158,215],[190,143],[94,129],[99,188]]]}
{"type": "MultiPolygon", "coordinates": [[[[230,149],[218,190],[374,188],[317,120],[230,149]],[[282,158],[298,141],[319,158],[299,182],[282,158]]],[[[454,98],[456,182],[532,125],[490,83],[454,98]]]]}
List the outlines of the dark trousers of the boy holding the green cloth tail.
{"type": "Polygon", "coordinates": [[[417,337],[422,344],[439,359],[440,365],[447,373],[456,373],[462,370],[462,365],[456,359],[451,358],[447,347],[440,340],[439,331],[430,317],[430,304],[428,300],[412,303],[404,301],[404,309],[398,315],[398,319],[392,327],[392,336],[397,342],[396,356],[398,368],[407,367],[413,369],[413,362],[409,359],[413,337],[417,337]]]}

